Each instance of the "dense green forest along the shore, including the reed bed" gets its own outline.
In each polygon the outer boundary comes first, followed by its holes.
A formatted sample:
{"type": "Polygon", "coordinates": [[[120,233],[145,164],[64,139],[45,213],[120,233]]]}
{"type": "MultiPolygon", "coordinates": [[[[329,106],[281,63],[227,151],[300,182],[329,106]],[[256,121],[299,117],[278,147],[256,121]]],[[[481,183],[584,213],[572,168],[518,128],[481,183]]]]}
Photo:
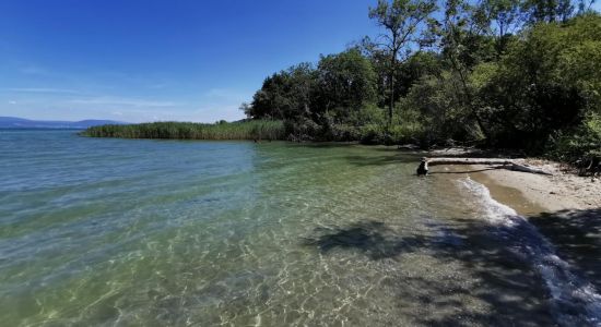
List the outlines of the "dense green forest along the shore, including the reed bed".
{"type": "MultiPolygon", "coordinates": [[[[594,0],[592,0],[594,1],[594,0]]],[[[601,155],[601,15],[581,0],[379,0],[381,35],[268,76],[236,123],[90,136],[479,145],[601,155]]]]}

